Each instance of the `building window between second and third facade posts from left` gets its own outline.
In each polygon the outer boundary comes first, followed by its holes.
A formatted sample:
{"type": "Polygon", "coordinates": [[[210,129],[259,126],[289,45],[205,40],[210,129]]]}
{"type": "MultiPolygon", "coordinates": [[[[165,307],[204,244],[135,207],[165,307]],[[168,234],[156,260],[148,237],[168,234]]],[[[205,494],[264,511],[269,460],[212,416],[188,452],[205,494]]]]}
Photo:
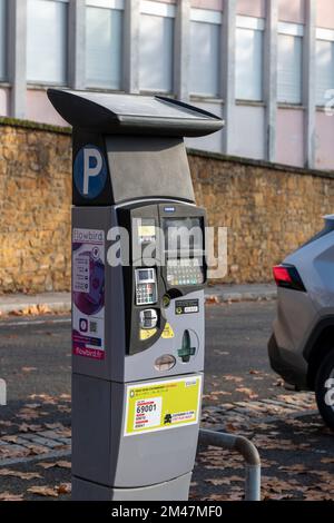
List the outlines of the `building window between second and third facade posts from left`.
{"type": "Polygon", "coordinates": [[[120,89],[122,78],[122,0],[87,0],[86,83],[120,89]]]}

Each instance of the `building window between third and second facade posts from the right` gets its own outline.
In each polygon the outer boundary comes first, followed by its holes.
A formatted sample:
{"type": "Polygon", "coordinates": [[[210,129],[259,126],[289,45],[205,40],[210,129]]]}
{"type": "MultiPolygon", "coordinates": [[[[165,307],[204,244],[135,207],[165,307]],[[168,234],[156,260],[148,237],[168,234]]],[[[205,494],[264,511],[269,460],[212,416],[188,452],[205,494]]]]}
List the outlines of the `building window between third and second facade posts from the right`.
{"type": "Polygon", "coordinates": [[[237,17],[236,28],[236,98],[263,100],[264,20],[237,17]]]}

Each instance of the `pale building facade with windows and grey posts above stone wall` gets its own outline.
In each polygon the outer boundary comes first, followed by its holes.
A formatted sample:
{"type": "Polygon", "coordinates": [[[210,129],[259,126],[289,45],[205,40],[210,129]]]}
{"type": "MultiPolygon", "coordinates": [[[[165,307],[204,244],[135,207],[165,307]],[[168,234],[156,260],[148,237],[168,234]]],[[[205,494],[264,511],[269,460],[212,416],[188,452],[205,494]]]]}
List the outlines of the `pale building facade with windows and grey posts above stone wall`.
{"type": "Polygon", "coordinates": [[[0,116],[48,87],[159,92],[226,119],[188,145],[334,169],[333,0],[0,0],[0,116]]]}

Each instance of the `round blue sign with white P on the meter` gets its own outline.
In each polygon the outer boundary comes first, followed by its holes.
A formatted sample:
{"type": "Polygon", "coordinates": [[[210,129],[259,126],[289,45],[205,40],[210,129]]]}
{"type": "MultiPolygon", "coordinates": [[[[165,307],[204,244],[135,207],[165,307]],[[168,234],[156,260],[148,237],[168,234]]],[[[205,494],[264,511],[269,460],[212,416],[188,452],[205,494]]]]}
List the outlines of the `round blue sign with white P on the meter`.
{"type": "Polygon", "coordinates": [[[81,196],[89,199],[99,196],[107,180],[107,166],[100,149],[91,145],[82,147],[75,160],[73,176],[81,196]]]}

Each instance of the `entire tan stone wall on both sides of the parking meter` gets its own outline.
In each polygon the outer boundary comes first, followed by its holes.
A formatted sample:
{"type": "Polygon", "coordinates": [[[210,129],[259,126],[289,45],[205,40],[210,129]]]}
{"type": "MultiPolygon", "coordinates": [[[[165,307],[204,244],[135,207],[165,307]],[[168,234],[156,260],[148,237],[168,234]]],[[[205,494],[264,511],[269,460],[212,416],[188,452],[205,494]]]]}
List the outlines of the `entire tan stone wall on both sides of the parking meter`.
{"type": "MultiPolygon", "coordinates": [[[[322,227],[334,176],[189,151],[198,205],[228,227],[226,283],[269,282],[272,266],[322,227]]],[[[0,292],[70,288],[68,129],[0,119],[0,292]]]]}

